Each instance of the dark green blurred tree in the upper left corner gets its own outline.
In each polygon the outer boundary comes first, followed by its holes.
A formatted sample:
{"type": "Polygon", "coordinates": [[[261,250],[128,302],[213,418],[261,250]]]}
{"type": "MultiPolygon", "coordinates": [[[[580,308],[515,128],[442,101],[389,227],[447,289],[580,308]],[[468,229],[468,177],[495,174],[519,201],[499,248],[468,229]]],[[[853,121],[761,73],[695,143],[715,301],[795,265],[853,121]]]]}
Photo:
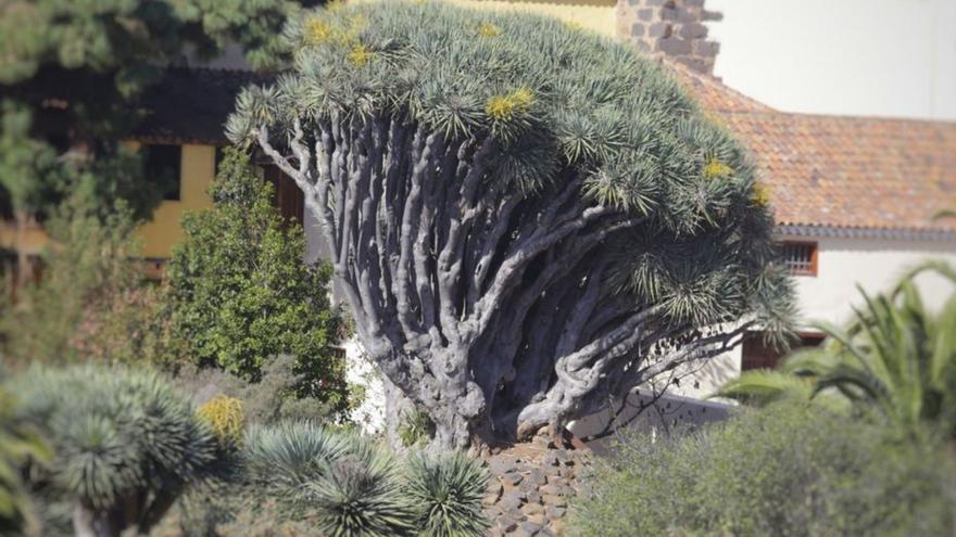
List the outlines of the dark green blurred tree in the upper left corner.
{"type": "Polygon", "coordinates": [[[286,55],[275,39],[287,0],[4,0],[0,2],[0,187],[23,229],[66,192],[125,199],[149,217],[164,187],[125,151],[142,90],[186,53],[230,43],[253,66],[286,55]]]}

